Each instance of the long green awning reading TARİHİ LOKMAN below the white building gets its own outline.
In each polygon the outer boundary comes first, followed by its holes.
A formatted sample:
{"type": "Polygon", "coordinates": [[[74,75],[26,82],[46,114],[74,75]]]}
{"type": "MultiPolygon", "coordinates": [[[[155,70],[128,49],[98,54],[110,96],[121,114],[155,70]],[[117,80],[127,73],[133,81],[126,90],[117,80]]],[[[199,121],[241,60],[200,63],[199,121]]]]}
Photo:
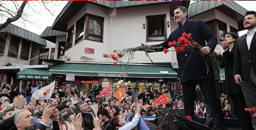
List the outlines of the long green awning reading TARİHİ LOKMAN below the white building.
{"type": "MultiPolygon", "coordinates": [[[[129,75],[123,77],[139,78],[177,78],[176,71],[170,65],[129,65],[129,75]]],[[[123,65],[123,67],[127,67],[123,65]]],[[[122,65],[100,63],[57,63],[49,73],[74,74],[77,76],[121,77],[122,65]]]]}

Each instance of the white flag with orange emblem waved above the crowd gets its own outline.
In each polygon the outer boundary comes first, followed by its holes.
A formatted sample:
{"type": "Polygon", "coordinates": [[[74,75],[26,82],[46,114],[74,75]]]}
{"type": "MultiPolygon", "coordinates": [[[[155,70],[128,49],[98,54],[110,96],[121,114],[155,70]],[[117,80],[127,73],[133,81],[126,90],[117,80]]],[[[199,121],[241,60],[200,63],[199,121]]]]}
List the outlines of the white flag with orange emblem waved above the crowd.
{"type": "Polygon", "coordinates": [[[50,97],[52,96],[52,93],[54,91],[54,85],[55,85],[55,81],[43,88],[40,88],[40,90],[38,90],[38,89],[35,90],[32,94],[32,97],[35,97],[36,100],[50,99],[50,97]]]}

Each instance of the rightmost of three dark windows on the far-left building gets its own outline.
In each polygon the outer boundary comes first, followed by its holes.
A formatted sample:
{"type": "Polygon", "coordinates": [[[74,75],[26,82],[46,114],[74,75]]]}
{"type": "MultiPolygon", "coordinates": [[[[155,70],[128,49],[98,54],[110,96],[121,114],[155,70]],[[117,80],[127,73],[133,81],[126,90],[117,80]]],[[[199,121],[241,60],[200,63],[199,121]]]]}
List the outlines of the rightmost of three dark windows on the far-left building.
{"type": "Polygon", "coordinates": [[[25,39],[22,40],[20,59],[28,60],[30,45],[31,45],[31,41],[25,40],[25,39]]]}

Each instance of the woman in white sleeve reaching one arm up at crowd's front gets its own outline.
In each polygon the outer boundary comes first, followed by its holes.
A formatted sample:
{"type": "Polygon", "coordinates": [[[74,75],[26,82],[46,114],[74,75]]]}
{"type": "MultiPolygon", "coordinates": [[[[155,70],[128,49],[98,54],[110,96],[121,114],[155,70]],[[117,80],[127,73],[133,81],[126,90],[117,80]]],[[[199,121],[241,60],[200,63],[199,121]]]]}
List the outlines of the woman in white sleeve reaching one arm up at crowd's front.
{"type": "Polygon", "coordinates": [[[126,122],[125,118],[121,115],[114,116],[110,119],[111,130],[131,130],[139,123],[139,116],[141,111],[141,105],[137,102],[137,109],[134,118],[131,122],[126,122]]]}

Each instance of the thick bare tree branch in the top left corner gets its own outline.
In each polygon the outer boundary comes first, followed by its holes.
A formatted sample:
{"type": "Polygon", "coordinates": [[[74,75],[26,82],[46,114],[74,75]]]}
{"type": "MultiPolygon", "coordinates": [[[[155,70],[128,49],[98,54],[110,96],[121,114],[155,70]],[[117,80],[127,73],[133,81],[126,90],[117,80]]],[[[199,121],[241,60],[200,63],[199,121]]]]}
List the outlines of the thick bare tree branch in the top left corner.
{"type": "Polygon", "coordinates": [[[0,30],[4,29],[11,22],[14,22],[14,21],[18,20],[21,17],[21,14],[23,13],[23,9],[24,9],[24,7],[27,3],[28,3],[28,1],[23,1],[23,3],[21,4],[20,9],[19,9],[18,13],[16,14],[16,16],[12,17],[12,18],[7,18],[5,23],[0,24],[0,30]]]}

